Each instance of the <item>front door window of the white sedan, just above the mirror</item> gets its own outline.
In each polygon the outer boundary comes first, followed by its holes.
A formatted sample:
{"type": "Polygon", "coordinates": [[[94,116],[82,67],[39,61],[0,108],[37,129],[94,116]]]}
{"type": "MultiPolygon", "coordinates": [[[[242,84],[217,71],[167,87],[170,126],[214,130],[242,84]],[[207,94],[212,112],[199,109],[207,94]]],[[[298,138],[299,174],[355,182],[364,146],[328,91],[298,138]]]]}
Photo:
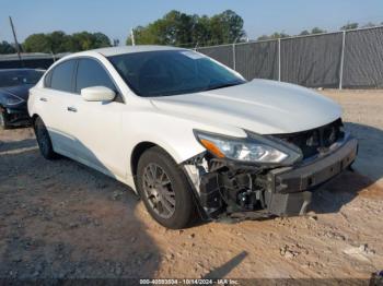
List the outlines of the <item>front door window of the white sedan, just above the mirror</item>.
{"type": "Polygon", "coordinates": [[[105,86],[117,92],[104,68],[95,60],[80,59],[77,70],[76,93],[90,86],[105,86]]]}

